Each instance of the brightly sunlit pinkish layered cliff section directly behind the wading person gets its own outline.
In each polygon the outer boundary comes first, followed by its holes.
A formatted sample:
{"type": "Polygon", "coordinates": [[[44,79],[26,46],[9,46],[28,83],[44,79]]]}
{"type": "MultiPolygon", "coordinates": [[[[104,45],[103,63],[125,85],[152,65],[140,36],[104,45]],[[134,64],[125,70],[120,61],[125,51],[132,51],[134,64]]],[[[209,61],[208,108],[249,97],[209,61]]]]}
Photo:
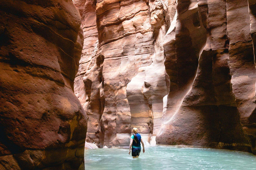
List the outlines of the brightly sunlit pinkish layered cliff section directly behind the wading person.
{"type": "Polygon", "coordinates": [[[86,1],[84,7],[85,42],[75,93],[89,118],[87,142],[127,147],[133,126],[150,141],[154,126],[161,126],[167,95],[162,3],[86,1]]]}

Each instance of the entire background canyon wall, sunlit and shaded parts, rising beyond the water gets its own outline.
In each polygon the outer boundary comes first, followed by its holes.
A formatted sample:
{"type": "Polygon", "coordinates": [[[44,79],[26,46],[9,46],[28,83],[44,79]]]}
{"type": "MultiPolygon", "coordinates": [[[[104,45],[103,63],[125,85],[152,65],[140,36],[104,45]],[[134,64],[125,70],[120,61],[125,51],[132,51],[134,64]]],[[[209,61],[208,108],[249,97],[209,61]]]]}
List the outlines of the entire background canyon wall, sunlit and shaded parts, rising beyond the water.
{"type": "Polygon", "coordinates": [[[84,47],[75,94],[87,142],[255,153],[253,0],[75,1],[84,47]]]}

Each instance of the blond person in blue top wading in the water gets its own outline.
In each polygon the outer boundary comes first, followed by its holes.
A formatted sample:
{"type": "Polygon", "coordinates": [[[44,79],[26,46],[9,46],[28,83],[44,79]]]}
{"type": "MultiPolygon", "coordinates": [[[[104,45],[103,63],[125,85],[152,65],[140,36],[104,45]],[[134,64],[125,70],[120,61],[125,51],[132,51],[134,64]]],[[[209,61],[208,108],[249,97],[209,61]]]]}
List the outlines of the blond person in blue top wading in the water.
{"type": "Polygon", "coordinates": [[[130,140],[129,155],[130,155],[131,149],[132,149],[132,157],[138,158],[140,155],[140,150],[141,150],[140,142],[143,147],[143,153],[145,152],[144,142],[141,139],[141,135],[138,133],[137,128],[133,128],[132,133],[133,133],[133,135],[131,136],[131,140],[130,140]]]}

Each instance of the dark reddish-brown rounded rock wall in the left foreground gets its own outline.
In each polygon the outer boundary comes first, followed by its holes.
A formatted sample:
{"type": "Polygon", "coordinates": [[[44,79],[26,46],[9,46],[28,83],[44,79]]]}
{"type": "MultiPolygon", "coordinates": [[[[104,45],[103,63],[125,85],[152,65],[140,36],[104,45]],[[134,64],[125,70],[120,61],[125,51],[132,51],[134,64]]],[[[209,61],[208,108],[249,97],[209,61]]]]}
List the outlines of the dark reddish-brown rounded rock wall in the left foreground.
{"type": "Polygon", "coordinates": [[[73,92],[83,46],[72,1],[0,1],[0,169],[84,169],[73,92]]]}

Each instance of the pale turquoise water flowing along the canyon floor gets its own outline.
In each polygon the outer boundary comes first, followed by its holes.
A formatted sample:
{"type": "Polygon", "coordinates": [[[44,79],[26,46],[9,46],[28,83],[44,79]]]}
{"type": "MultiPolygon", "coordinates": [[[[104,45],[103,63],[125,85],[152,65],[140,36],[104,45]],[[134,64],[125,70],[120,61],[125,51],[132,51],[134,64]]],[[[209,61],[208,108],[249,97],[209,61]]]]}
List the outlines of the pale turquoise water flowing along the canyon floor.
{"type": "Polygon", "coordinates": [[[85,150],[85,169],[256,170],[256,156],[238,151],[147,147],[133,159],[127,149],[85,150]]]}

